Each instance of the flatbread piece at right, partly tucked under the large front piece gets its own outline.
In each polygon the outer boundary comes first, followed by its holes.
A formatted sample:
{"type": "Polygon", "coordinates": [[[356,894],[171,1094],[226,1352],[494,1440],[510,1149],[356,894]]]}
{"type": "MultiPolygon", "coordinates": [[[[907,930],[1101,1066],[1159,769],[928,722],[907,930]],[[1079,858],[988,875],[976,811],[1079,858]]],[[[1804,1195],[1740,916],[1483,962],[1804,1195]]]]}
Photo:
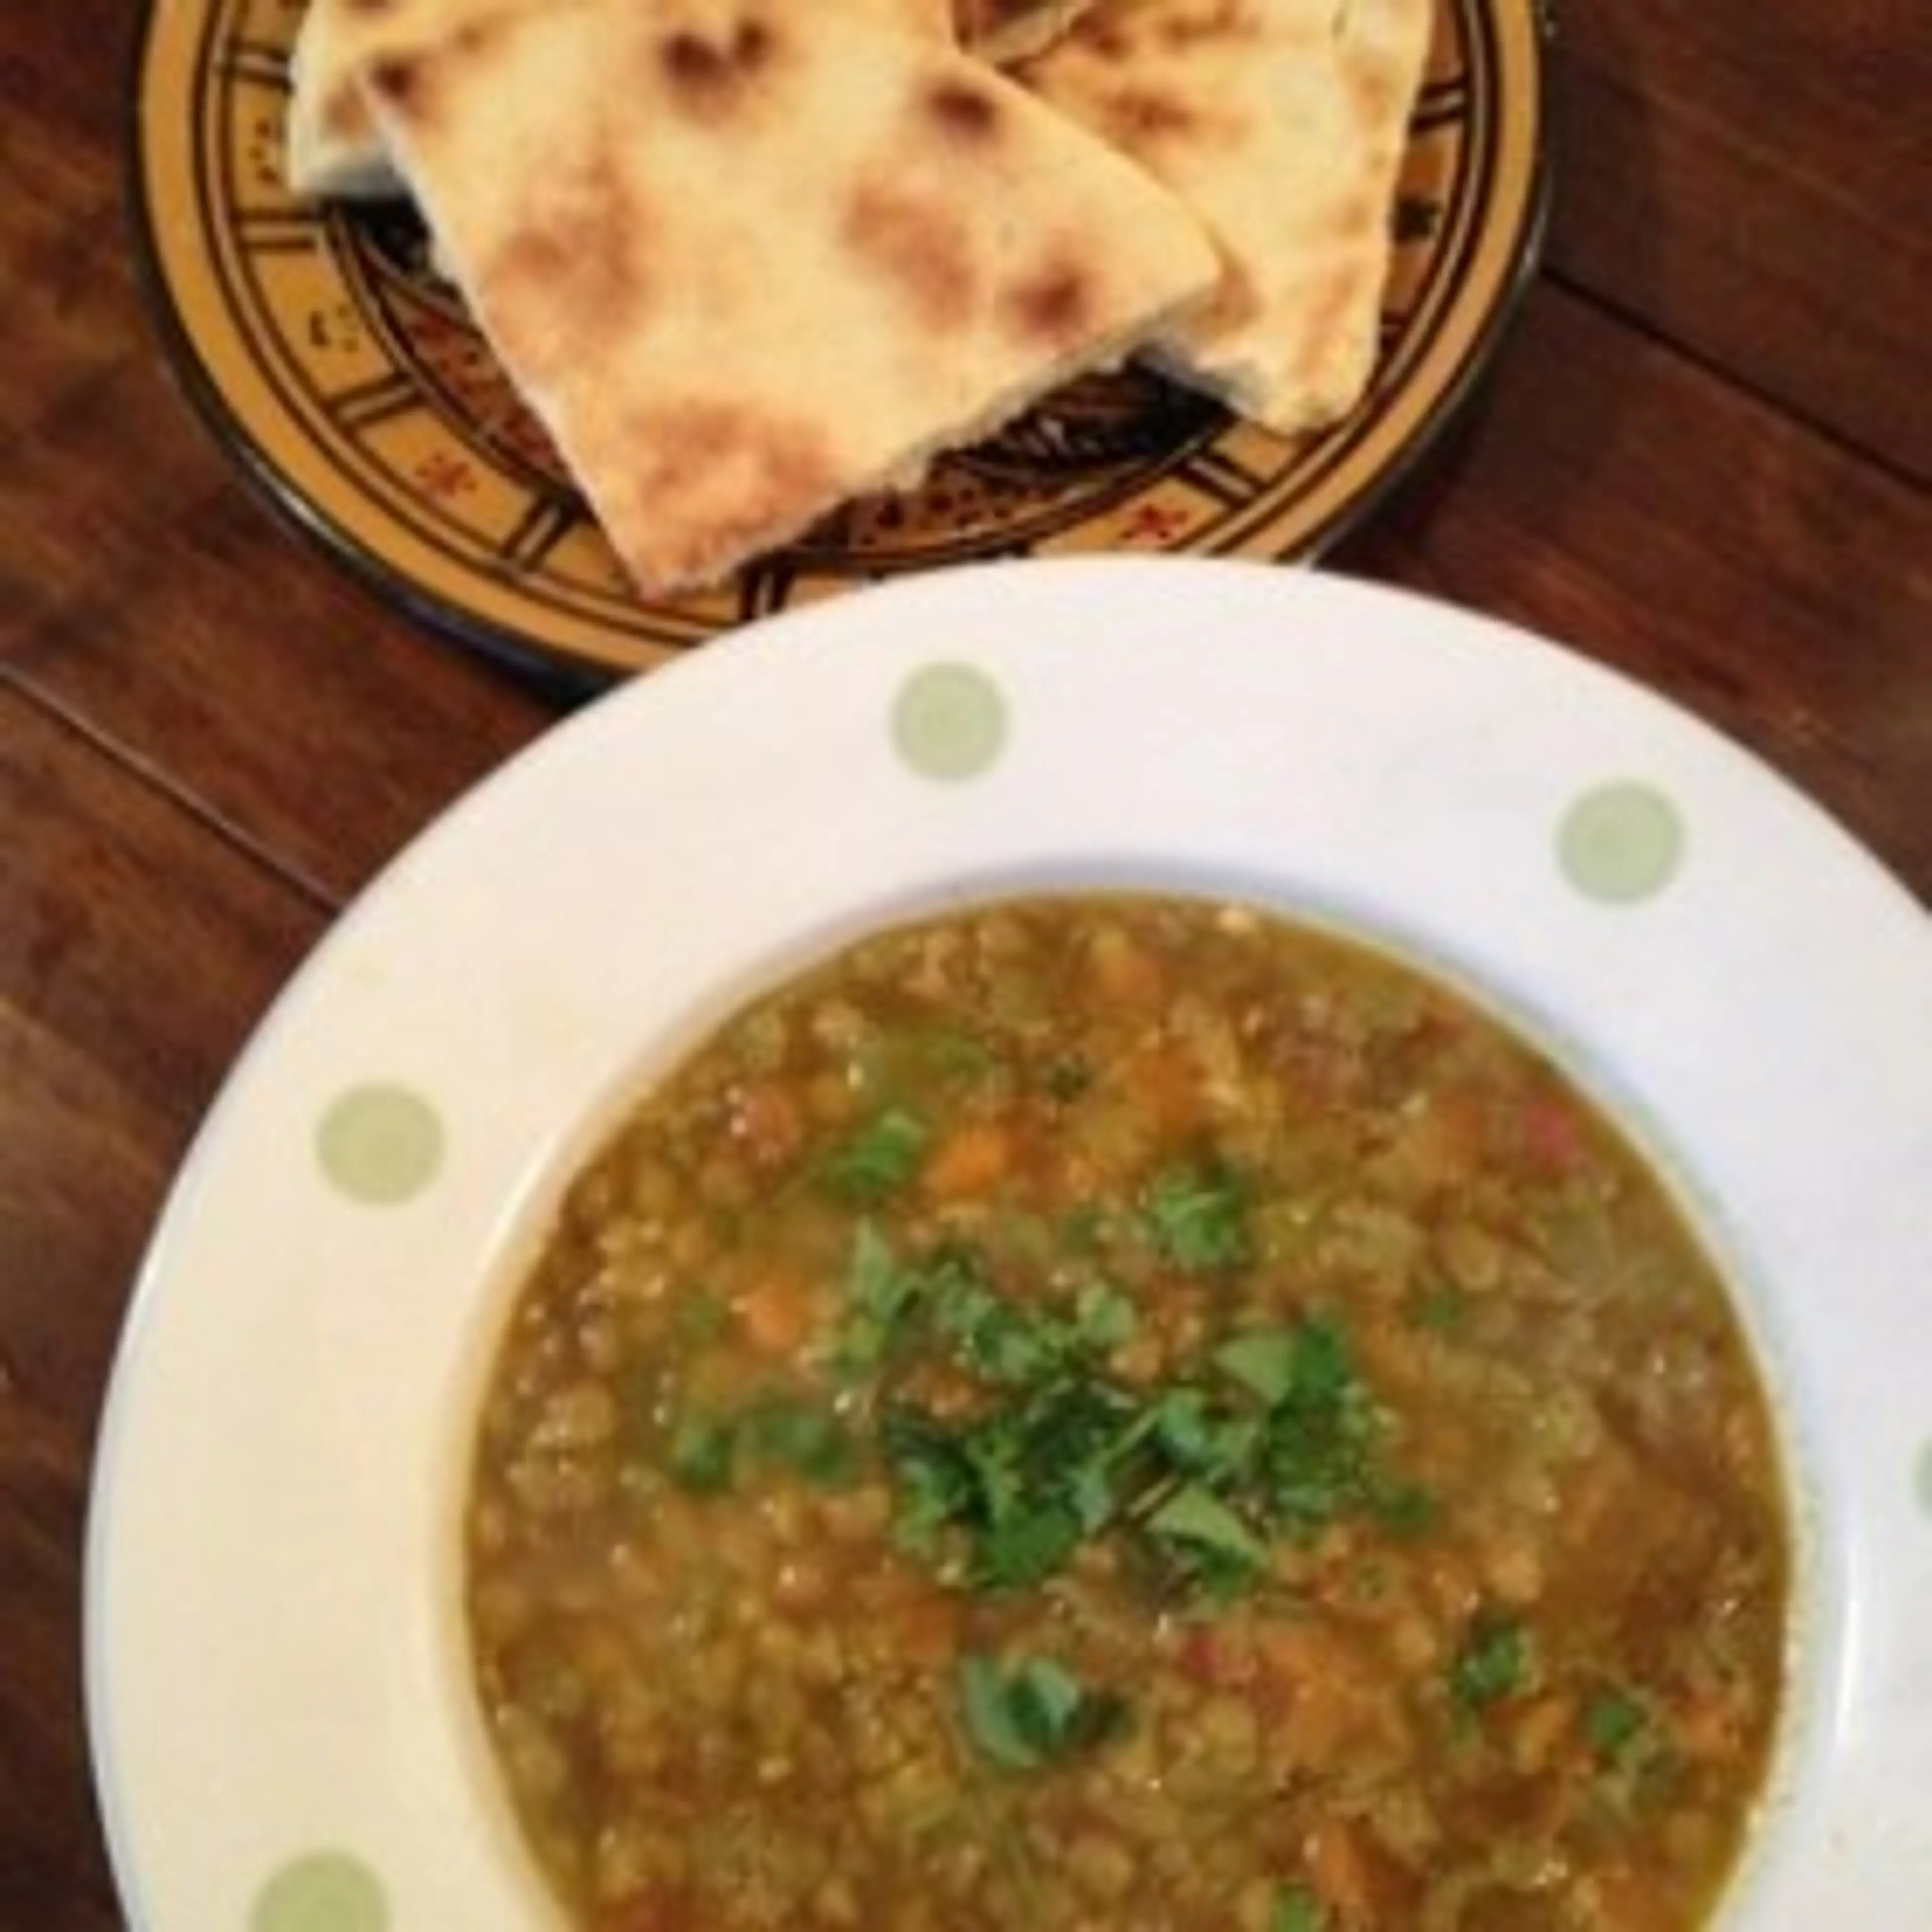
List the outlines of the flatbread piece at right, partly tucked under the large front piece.
{"type": "Polygon", "coordinates": [[[1016,70],[1221,247],[1221,294],[1151,361],[1283,435],[1354,408],[1430,29],[1430,0],[1099,0],[1016,70]]]}

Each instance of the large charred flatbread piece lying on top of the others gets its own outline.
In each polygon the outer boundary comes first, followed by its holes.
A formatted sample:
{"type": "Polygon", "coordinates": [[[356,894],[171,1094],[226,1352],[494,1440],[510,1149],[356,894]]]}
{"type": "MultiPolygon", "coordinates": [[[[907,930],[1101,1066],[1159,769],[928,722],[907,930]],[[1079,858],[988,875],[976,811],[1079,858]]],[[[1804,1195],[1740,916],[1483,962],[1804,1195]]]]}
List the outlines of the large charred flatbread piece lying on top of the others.
{"type": "Polygon", "coordinates": [[[983,62],[796,0],[498,14],[367,91],[645,595],[916,481],[1219,278],[1167,189],[983,62]]]}

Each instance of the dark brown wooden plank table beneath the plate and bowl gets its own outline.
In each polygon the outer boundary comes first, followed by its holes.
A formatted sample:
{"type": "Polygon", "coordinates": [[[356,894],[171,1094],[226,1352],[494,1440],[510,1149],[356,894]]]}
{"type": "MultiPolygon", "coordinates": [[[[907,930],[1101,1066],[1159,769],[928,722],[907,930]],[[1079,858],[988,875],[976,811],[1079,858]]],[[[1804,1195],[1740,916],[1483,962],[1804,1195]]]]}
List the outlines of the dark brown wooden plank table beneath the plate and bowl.
{"type": "MultiPolygon", "coordinates": [[[[79,1702],[116,1329],[191,1130],[348,898],[560,713],[290,539],[124,211],[135,0],[0,10],[0,1924],[120,1922],[79,1702]]],[[[1619,665],[1932,896],[1932,12],[1559,23],[1546,267],[1335,564],[1619,665]]]]}

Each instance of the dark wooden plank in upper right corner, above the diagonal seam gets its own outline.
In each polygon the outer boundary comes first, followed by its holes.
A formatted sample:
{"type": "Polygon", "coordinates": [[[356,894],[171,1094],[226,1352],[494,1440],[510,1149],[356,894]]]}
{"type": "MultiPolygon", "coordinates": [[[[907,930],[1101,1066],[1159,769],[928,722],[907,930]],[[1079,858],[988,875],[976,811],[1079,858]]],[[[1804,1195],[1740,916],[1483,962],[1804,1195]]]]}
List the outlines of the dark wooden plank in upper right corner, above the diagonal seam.
{"type": "Polygon", "coordinates": [[[1932,8],[1567,6],[1549,265],[1932,483],[1932,8]]]}

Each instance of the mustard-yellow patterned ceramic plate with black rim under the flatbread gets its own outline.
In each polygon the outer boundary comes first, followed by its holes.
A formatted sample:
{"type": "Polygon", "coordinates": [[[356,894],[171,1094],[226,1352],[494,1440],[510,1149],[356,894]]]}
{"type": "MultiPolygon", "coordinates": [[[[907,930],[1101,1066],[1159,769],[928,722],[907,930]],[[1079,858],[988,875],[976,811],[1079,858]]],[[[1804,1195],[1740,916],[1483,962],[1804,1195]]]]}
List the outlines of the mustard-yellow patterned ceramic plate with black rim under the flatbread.
{"type": "Polygon", "coordinates": [[[1136,369],[1084,379],[925,487],[856,500],[719,591],[643,605],[402,207],[282,180],[301,0],[153,0],[137,203],[189,388],[272,497],[446,630],[601,672],[966,558],[1316,553],[1468,386],[1534,253],[1540,0],[1439,0],[1360,408],[1287,442],[1136,369]]]}

